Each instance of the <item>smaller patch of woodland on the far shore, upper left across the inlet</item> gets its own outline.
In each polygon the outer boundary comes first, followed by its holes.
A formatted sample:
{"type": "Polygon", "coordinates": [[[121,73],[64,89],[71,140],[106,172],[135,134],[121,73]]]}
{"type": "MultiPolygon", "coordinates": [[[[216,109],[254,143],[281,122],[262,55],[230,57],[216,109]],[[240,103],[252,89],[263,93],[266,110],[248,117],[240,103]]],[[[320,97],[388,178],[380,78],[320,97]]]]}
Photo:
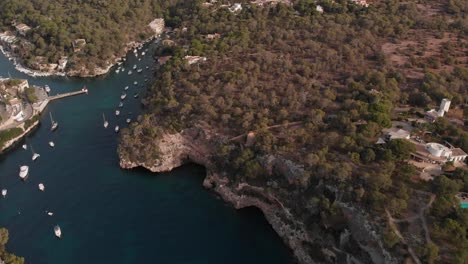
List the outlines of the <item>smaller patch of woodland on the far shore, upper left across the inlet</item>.
{"type": "Polygon", "coordinates": [[[70,67],[85,65],[92,69],[123,55],[130,41],[142,41],[149,35],[148,23],[162,15],[171,1],[159,0],[4,0],[0,1],[0,31],[13,30],[12,23],[25,23],[28,45],[22,45],[21,57],[27,66],[35,56],[57,63],[71,56],[70,67]],[[73,53],[72,41],[84,38],[82,52],[73,53]]]}

